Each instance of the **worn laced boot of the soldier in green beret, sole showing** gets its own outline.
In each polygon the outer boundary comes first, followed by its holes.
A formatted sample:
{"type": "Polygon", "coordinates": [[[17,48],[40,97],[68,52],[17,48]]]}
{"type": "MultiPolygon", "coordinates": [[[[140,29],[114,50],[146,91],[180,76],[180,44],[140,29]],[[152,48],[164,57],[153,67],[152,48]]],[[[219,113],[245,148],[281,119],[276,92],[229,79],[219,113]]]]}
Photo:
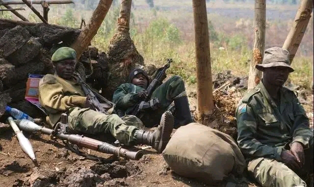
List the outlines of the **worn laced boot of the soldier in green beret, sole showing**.
{"type": "Polygon", "coordinates": [[[136,131],[136,143],[152,146],[161,153],[170,139],[173,130],[174,118],[171,112],[166,111],[162,114],[160,124],[154,132],[143,130],[136,131]]]}

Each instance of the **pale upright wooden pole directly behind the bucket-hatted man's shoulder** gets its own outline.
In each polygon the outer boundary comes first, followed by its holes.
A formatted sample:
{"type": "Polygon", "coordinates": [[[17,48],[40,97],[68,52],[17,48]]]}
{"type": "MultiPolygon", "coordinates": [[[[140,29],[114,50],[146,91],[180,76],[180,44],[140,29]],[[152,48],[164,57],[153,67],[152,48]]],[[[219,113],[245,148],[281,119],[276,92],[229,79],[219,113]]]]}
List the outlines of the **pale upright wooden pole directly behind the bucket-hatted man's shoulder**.
{"type": "Polygon", "coordinates": [[[250,73],[247,89],[254,88],[260,83],[262,72],[255,68],[256,64],[261,64],[264,48],[265,48],[265,18],[266,18],[266,2],[265,0],[255,0],[255,21],[254,21],[254,46],[252,61],[250,64],[250,73]]]}

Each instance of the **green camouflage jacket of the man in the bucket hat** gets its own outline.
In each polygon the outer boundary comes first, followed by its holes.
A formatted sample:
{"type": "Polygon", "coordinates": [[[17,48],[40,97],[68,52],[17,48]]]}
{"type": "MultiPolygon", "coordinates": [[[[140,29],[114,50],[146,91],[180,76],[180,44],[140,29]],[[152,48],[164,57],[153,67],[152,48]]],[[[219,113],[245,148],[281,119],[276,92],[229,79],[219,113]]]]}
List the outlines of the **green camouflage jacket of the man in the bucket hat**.
{"type": "Polygon", "coordinates": [[[309,119],[293,91],[280,89],[280,107],[269,96],[262,81],[244,95],[236,109],[237,142],[248,159],[281,161],[287,143],[295,141],[309,148],[313,131],[309,119]]]}

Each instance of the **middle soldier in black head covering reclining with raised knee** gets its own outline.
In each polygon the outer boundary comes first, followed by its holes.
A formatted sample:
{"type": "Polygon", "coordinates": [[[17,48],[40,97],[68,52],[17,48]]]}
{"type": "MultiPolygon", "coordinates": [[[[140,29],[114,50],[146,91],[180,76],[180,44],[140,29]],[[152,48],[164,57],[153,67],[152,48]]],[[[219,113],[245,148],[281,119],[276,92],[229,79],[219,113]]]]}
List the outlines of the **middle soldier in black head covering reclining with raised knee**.
{"type": "MultiPolygon", "coordinates": [[[[136,68],[131,71],[127,83],[121,84],[113,93],[112,102],[115,110],[122,115],[129,114],[133,107],[148,97],[146,91],[149,78],[143,69],[136,68]]],[[[146,108],[141,109],[138,116],[145,127],[153,127],[158,124],[160,117],[174,101],[174,128],[193,122],[185,92],[184,82],[181,77],[173,76],[159,85],[149,98],[146,108]]],[[[120,115],[121,116],[121,115],[120,115]]]]}

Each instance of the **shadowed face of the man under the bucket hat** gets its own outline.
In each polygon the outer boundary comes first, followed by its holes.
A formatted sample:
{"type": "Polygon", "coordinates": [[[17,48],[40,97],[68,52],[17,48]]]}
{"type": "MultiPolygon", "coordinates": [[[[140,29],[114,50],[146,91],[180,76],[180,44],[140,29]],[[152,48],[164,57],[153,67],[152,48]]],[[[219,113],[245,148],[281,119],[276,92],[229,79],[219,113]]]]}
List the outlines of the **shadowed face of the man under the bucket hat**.
{"type": "Polygon", "coordinates": [[[274,86],[283,86],[288,80],[289,73],[289,68],[284,66],[265,68],[263,80],[274,86]]]}

